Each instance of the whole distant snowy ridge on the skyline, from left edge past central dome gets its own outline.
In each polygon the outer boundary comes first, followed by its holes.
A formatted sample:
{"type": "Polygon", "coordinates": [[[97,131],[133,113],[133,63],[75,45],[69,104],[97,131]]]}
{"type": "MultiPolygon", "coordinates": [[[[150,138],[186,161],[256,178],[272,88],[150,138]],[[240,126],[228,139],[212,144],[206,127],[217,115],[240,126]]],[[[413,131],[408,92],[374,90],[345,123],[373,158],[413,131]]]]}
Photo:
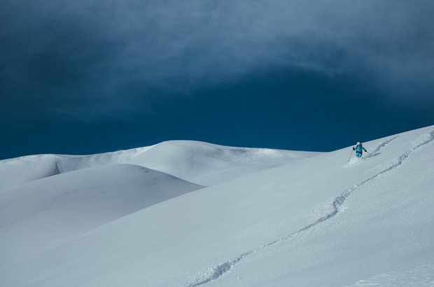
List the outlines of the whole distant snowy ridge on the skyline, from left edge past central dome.
{"type": "Polygon", "coordinates": [[[200,141],[165,141],[155,146],[97,155],[30,155],[0,161],[0,188],[87,167],[134,164],[211,186],[318,153],[234,148],[200,141]]]}

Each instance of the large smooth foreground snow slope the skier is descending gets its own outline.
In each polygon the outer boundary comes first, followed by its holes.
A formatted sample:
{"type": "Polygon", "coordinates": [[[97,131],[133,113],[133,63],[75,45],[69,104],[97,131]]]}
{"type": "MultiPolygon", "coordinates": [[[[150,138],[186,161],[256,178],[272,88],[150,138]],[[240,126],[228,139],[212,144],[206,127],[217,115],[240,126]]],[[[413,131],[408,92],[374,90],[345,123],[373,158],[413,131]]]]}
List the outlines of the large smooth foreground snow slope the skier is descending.
{"type": "MultiPolygon", "coordinates": [[[[0,280],[74,287],[433,286],[434,126],[365,147],[372,155],[360,160],[348,162],[351,148],[344,148],[173,197],[36,258],[8,264],[8,254],[0,280]]],[[[0,248],[8,249],[7,242],[0,248]]]]}

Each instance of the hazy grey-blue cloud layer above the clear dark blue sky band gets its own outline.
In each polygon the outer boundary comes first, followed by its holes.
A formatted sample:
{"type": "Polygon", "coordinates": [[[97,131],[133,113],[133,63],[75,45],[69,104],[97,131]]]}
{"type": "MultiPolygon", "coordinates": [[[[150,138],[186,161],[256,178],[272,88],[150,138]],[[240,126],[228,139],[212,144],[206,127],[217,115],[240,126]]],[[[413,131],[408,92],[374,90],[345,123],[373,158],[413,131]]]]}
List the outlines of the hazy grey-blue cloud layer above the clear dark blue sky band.
{"type": "MultiPolygon", "coordinates": [[[[434,2],[3,0],[0,92],[9,105],[132,109],[286,68],[350,73],[397,97],[434,91],[434,2]]],[[[8,105],[3,105],[8,106],[8,105]]]]}

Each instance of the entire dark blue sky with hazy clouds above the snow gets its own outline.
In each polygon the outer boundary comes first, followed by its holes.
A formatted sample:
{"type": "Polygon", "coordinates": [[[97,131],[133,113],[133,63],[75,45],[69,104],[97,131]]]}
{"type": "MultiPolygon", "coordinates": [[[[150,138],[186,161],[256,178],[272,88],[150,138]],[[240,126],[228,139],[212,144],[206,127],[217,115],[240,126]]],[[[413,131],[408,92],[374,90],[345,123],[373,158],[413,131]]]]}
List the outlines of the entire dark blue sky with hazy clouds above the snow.
{"type": "Polygon", "coordinates": [[[0,1],[0,158],[434,124],[431,0],[0,1]]]}

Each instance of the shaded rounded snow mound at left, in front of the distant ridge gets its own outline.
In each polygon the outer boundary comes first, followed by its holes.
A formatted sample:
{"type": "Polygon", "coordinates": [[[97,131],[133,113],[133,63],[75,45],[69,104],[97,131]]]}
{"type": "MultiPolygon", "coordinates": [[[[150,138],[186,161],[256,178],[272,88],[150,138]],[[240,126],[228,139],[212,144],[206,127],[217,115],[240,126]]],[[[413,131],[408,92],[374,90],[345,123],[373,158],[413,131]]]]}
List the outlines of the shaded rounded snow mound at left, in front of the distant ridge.
{"type": "Polygon", "coordinates": [[[200,188],[137,165],[107,165],[3,189],[0,267],[31,258],[99,225],[200,188]]]}

